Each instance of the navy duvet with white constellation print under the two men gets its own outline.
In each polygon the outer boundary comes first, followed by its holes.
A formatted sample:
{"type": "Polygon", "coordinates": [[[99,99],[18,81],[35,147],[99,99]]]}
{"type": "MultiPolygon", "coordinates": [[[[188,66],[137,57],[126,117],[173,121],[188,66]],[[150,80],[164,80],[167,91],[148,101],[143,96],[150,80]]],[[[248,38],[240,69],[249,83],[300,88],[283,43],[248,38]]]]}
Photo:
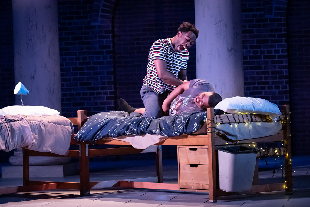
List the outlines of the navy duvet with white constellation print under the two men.
{"type": "Polygon", "coordinates": [[[176,137],[192,134],[204,124],[206,111],[161,118],[145,118],[137,112],[108,111],[92,115],[78,131],[74,140],[93,141],[104,137],[157,134],[176,137]]]}

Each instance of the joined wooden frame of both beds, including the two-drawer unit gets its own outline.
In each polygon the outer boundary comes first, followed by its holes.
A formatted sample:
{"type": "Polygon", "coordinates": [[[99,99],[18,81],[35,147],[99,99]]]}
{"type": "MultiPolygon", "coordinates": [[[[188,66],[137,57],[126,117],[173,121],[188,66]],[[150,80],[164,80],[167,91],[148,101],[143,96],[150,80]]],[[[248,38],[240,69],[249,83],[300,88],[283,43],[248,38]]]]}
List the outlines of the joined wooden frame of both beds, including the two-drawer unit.
{"type": "MultiPolygon", "coordinates": [[[[86,110],[79,110],[77,118],[68,118],[77,124],[78,128],[87,120],[86,110]]],[[[214,109],[207,109],[207,129],[214,129],[214,109]]],[[[71,137],[72,138],[72,137],[71,137]]],[[[219,146],[227,146],[227,141],[218,137],[211,130],[203,135],[182,135],[180,137],[168,137],[166,140],[157,143],[151,149],[152,152],[156,152],[156,172],[157,182],[137,182],[137,181],[118,181],[115,183],[115,187],[135,187],[135,188],[150,188],[150,189],[166,189],[166,190],[181,190],[181,191],[205,191],[209,192],[210,202],[216,202],[217,197],[227,195],[238,194],[251,194],[258,192],[268,191],[286,191],[286,194],[293,193],[292,186],[292,165],[291,165],[291,137],[290,137],[290,107],[289,105],[283,105],[283,126],[282,129],[275,135],[268,137],[259,137],[254,139],[241,140],[239,144],[257,144],[263,142],[284,142],[285,150],[285,183],[272,183],[272,184],[258,184],[258,165],[256,165],[253,185],[251,190],[229,193],[219,189],[218,184],[218,169],[217,169],[217,148],[219,146]],[[178,184],[163,183],[162,179],[162,145],[178,146],[178,184]],[[180,150],[182,148],[182,151],[180,150]],[[185,149],[185,154],[184,154],[185,149]],[[186,149],[194,151],[187,152],[186,149]],[[199,150],[197,150],[199,149],[199,150]],[[185,156],[185,162],[184,162],[185,156]],[[201,157],[207,160],[202,163],[201,157]],[[198,160],[197,160],[198,159],[198,160]],[[194,160],[194,161],[190,161],[194,160]],[[191,163],[192,162],[192,163],[191,163]],[[202,164],[204,171],[197,168],[197,172],[194,171],[182,171],[180,166],[183,164],[202,164]],[[204,177],[204,181],[198,181],[199,183],[191,183],[190,187],[186,186],[184,182],[193,180],[193,177],[204,177]],[[207,178],[207,179],[205,179],[207,178]],[[185,179],[185,180],[184,180],[185,179]]],[[[19,187],[3,187],[0,188],[0,194],[24,192],[24,191],[38,191],[49,189],[78,189],[81,194],[89,194],[92,188],[103,188],[104,185],[100,185],[100,182],[90,182],[89,179],[89,158],[104,155],[121,155],[121,154],[133,154],[141,152],[150,152],[150,150],[139,150],[132,146],[117,147],[117,148],[104,148],[104,149],[88,149],[91,144],[110,144],[110,145],[130,145],[128,142],[119,140],[99,140],[97,142],[77,142],[71,139],[71,145],[78,145],[78,150],[69,150],[69,157],[79,158],[80,168],[80,182],[45,182],[45,181],[32,181],[29,179],[29,156],[62,156],[52,153],[44,153],[31,151],[23,148],[23,186],[19,187]]],[[[231,145],[231,144],[229,144],[231,145]]]]}

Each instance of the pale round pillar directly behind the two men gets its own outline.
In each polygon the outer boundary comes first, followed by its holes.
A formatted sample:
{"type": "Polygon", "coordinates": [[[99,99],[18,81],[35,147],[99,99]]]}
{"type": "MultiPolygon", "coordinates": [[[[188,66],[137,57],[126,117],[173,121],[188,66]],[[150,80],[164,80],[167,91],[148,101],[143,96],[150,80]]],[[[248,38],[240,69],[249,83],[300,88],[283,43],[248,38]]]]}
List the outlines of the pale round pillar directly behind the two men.
{"type": "Polygon", "coordinates": [[[222,98],[244,96],[240,0],[195,0],[197,78],[222,98]]]}

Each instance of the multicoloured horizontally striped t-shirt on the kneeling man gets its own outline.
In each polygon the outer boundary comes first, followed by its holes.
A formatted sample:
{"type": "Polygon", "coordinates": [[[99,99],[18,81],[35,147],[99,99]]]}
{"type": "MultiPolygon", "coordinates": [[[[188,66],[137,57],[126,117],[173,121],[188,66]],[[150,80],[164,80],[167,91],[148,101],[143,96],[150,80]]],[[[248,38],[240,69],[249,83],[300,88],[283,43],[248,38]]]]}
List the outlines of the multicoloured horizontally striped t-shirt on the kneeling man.
{"type": "Polygon", "coordinates": [[[159,39],[153,43],[148,53],[148,67],[147,74],[143,79],[144,85],[152,88],[156,93],[163,93],[166,90],[172,91],[175,89],[174,85],[167,84],[159,79],[154,60],[164,60],[167,63],[167,70],[171,72],[175,77],[178,77],[180,70],[187,69],[188,63],[188,50],[185,49],[181,52],[176,52],[172,47],[170,38],[159,39]]]}

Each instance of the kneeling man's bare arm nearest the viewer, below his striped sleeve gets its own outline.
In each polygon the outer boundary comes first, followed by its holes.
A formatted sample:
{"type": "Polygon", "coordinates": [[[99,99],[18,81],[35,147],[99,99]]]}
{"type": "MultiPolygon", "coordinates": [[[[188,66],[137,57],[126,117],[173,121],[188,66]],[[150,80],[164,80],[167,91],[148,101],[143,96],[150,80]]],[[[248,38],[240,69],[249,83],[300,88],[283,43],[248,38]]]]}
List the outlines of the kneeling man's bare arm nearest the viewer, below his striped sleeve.
{"type": "Polygon", "coordinates": [[[154,60],[154,65],[156,68],[157,75],[163,82],[168,83],[170,85],[179,86],[184,81],[181,81],[177,77],[175,77],[172,73],[167,70],[167,63],[164,60],[154,60]]]}

